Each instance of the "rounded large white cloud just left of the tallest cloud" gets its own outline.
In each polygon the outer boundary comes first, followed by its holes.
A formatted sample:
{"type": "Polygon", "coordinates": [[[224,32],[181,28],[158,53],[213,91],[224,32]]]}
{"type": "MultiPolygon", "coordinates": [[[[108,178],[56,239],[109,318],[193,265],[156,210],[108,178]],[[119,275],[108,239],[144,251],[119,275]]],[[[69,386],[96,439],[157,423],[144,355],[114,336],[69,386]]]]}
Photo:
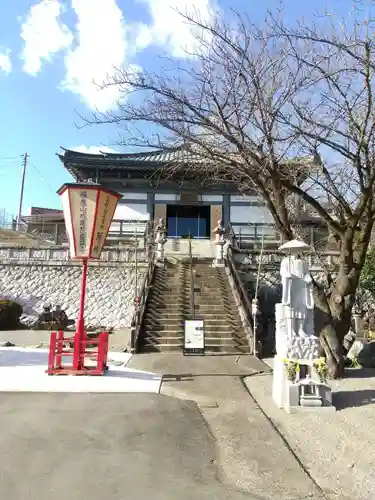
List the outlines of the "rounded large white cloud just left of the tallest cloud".
{"type": "Polygon", "coordinates": [[[54,54],[71,45],[73,35],[59,19],[63,11],[59,0],[42,0],[30,8],[21,26],[24,40],[21,59],[26,73],[36,75],[43,59],[51,61],[54,54]]]}

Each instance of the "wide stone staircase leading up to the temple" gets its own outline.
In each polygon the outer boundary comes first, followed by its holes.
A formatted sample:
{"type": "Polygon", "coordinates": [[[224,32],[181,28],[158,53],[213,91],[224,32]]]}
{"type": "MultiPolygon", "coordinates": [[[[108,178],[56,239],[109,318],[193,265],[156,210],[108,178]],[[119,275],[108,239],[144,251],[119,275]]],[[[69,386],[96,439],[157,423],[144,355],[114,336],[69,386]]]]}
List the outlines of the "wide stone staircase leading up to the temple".
{"type": "MultiPolygon", "coordinates": [[[[206,353],[250,354],[249,342],[225,268],[212,259],[193,262],[195,318],[204,320],[206,353]]],[[[193,318],[192,280],[187,261],[158,267],[140,332],[139,352],[179,351],[184,321],[193,318]]]]}

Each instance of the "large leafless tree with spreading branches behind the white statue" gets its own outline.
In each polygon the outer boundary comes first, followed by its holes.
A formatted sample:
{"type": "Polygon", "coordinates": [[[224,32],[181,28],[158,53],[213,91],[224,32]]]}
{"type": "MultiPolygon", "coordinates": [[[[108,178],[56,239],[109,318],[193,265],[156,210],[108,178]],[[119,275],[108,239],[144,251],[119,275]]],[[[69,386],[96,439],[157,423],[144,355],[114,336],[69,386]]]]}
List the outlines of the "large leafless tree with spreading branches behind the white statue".
{"type": "Polygon", "coordinates": [[[204,23],[185,14],[200,30],[199,50],[185,63],[167,60],[157,74],[118,69],[105,86],[126,97],[86,123],[118,125],[126,145],[184,146],[190,174],[255,190],[285,239],[294,237],[291,198],[310,206],[340,248],[337,269],[325,269],[315,295],[331,375],[341,377],[375,217],[373,40],[356,23],[352,31],[322,23],[319,31],[271,15],[262,27],[234,17],[204,23]],[[139,124],[153,133],[143,135],[139,124]]]}

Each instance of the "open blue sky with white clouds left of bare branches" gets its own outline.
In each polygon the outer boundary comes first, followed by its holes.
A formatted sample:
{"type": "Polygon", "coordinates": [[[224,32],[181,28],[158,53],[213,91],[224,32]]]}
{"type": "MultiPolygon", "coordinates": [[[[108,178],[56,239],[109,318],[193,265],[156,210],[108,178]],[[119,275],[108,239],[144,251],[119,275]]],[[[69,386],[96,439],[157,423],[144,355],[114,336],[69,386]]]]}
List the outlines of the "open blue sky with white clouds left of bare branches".
{"type": "MultiPolygon", "coordinates": [[[[109,145],[110,126],[78,129],[76,111],[105,110],[117,94],[98,92],[113,66],[157,70],[159,53],[185,57],[191,35],[171,9],[228,7],[262,19],[278,2],[259,0],[0,0],[0,210],[18,208],[21,155],[30,155],[23,213],[30,206],[59,208],[55,194],[70,181],[56,157],[60,146],[95,152],[109,145]]],[[[284,0],[289,20],[312,18],[323,0],[284,0]]],[[[345,15],[350,0],[330,0],[345,15]]],[[[113,148],[113,146],[112,146],[113,148]]]]}

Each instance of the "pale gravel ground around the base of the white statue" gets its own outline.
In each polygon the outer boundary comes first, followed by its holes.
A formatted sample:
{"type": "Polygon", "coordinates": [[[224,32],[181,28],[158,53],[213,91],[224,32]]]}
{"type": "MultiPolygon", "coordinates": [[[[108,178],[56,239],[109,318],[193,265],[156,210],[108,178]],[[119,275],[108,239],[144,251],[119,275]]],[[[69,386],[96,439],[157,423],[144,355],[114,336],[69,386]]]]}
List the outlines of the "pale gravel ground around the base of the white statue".
{"type": "Polygon", "coordinates": [[[330,498],[369,500],[375,498],[375,370],[348,372],[331,383],[334,413],[286,414],[273,403],[271,374],[248,377],[246,385],[330,498]]]}

